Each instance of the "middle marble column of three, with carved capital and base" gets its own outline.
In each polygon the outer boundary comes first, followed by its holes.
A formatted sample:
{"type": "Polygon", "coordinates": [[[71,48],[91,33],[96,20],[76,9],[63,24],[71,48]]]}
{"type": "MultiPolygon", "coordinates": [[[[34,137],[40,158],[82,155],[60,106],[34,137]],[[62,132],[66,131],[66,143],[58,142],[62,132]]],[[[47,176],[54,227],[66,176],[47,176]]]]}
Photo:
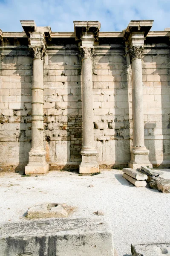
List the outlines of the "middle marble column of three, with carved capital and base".
{"type": "Polygon", "coordinates": [[[83,146],[81,149],[82,162],[80,173],[99,172],[94,147],[93,124],[93,93],[92,93],[92,47],[81,47],[82,52],[82,81],[83,81],[83,146]]]}

